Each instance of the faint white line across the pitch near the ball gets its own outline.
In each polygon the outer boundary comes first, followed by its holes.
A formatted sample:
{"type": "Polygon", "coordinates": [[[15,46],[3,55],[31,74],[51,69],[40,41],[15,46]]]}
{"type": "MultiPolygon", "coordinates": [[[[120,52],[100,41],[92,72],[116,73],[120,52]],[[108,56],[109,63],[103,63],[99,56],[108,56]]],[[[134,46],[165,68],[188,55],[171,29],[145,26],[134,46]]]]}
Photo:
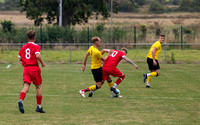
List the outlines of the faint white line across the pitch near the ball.
{"type": "MultiPolygon", "coordinates": [[[[27,94],[28,96],[35,96],[35,94],[27,94]]],[[[4,94],[0,93],[0,96],[19,96],[19,94],[4,94]]],[[[42,96],[47,96],[47,97],[65,97],[65,98],[77,98],[81,96],[67,96],[67,95],[42,95],[42,96]]],[[[99,96],[97,96],[99,97],[99,96]]],[[[100,98],[107,98],[106,97],[100,97],[100,98]]],[[[193,98],[193,97],[188,97],[188,98],[179,98],[179,97],[139,97],[139,96],[133,96],[133,97],[123,97],[125,99],[158,99],[158,100],[200,100],[200,98],[193,98]]]]}

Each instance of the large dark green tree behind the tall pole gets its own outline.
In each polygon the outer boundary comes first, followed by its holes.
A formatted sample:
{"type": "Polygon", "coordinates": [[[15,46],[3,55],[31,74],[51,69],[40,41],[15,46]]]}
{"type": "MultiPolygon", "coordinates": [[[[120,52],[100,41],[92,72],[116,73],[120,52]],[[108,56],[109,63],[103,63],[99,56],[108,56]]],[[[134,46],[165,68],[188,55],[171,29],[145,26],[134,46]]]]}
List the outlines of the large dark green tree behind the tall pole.
{"type": "MultiPolygon", "coordinates": [[[[59,22],[59,0],[20,0],[19,6],[26,16],[34,20],[35,25],[46,19],[49,24],[59,22]]],[[[87,23],[95,15],[109,17],[110,0],[63,0],[63,26],[87,23]]],[[[118,2],[113,0],[114,12],[118,11],[118,2]]]]}

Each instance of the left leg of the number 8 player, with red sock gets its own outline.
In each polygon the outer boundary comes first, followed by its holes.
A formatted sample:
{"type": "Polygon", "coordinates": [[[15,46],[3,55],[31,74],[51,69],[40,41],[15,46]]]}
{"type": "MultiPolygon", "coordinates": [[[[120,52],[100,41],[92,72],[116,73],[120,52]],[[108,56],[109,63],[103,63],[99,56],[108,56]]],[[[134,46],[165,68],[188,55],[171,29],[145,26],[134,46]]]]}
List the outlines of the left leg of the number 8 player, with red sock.
{"type": "Polygon", "coordinates": [[[26,97],[26,93],[28,92],[29,88],[30,88],[30,84],[25,82],[24,87],[20,93],[20,98],[19,98],[19,102],[18,102],[19,111],[21,113],[24,113],[23,101],[24,101],[24,98],[26,97]]]}

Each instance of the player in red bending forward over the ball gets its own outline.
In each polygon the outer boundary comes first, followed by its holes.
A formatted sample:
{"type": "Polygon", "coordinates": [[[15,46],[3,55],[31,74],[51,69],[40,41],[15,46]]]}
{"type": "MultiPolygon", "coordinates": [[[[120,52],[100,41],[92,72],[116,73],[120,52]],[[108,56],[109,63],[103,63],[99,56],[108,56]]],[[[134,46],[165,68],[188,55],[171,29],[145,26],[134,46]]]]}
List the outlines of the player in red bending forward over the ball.
{"type": "Polygon", "coordinates": [[[119,77],[117,81],[114,83],[114,85],[110,88],[111,91],[113,91],[115,94],[119,94],[118,91],[116,91],[116,86],[119,85],[122,80],[125,78],[125,75],[117,69],[118,63],[124,59],[126,62],[132,64],[136,69],[138,69],[138,66],[132,62],[130,59],[126,57],[127,55],[127,49],[122,48],[121,51],[114,50],[114,52],[108,57],[108,59],[104,62],[103,68],[102,68],[102,80],[105,81],[109,78],[110,75],[113,77],[119,77]]]}

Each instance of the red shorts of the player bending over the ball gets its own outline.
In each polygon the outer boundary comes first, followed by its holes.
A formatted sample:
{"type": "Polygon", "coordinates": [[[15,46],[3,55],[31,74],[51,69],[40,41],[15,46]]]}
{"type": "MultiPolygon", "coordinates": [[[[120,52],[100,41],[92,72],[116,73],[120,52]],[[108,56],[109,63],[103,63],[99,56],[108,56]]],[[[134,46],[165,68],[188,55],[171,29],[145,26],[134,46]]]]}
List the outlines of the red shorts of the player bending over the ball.
{"type": "Polygon", "coordinates": [[[117,69],[116,67],[103,67],[102,80],[107,80],[110,75],[112,75],[113,77],[120,77],[123,75],[123,73],[119,71],[119,69],[117,69]]]}

